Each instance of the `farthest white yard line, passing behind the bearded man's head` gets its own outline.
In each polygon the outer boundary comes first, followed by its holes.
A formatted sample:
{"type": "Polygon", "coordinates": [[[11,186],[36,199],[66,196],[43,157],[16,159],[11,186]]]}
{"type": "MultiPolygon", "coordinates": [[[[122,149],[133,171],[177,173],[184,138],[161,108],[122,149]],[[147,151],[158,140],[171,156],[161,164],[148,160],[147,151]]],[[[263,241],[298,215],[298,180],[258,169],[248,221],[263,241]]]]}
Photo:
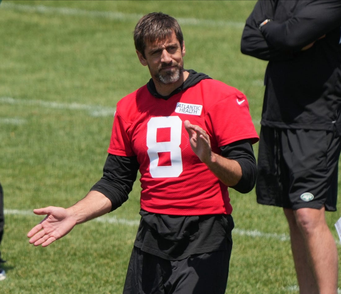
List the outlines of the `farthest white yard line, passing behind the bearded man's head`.
{"type": "MultiPolygon", "coordinates": [[[[86,17],[99,17],[110,20],[134,20],[137,21],[142,14],[121,13],[115,11],[95,11],[82,10],[69,7],[52,7],[45,5],[25,5],[13,2],[1,3],[0,9],[20,10],[24,12],[38,12],[43,14],[60,14],[60,15],[76,15],[86,17]]],[[[199,19],[199,18],[178,18],[180,25],[194,25],[194,26],[218,26],[218,27],[235,27],[243,28],[245,23],[241,21],[224,21],[214,19],[199,19]]]]}

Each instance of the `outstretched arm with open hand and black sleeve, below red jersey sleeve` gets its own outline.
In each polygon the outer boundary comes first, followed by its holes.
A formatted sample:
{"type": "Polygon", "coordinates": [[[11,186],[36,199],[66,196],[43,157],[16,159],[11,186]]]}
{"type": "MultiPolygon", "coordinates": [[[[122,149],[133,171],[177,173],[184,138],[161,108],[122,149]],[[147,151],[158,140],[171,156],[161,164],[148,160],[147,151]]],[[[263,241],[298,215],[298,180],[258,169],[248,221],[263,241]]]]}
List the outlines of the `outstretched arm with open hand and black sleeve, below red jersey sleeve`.
{"type": "Polygon", "coordinates": [[[55,206],[35,209],[33,211],[35,214],[46,215],[46,217],[28,232],[29,242],[34,246],[48,246],[68,234],[75,225],[117,208],[128,198],[127,191],[131,190],[133,179],[136,179],[137,164],[132,164],[135,161],[133,157],[109,154],[103,168],[102,179],[92,187],[82,200],[66,209],[55,206]],[[129,172],[132,166],[135,166],[135,172],[129,172]],[[121,176],[117,177],[116,175],[119,174],[121,176]],[[108,195],[106,196],[104,193],[108,195]],[[114,207],[113,203],[115,204],[114,207]]]}

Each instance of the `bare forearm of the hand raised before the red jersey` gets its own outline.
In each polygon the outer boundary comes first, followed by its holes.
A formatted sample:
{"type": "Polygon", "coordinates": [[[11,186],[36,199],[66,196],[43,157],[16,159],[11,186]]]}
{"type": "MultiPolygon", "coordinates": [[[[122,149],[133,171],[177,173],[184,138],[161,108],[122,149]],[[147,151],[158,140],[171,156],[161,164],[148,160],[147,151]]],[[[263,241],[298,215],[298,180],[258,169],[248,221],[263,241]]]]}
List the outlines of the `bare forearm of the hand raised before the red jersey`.
{"type": "Polygon", "coordinates": [[[205,164],[228,187],[237,185],[241,179],[242,170],[236,160],[212,152],[211,159],[205,164]]]}

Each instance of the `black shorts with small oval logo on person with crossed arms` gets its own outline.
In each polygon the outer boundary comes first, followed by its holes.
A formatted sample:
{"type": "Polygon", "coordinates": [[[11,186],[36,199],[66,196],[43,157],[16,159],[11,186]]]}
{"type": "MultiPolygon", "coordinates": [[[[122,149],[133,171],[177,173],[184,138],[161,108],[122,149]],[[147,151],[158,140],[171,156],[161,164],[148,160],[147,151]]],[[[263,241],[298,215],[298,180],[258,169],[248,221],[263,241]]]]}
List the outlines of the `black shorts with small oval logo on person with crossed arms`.
{"type": "Polygon", "coordinates": [[[257,202],[336,211],[340,146],[333,132],[262,126],[257,202]]]}

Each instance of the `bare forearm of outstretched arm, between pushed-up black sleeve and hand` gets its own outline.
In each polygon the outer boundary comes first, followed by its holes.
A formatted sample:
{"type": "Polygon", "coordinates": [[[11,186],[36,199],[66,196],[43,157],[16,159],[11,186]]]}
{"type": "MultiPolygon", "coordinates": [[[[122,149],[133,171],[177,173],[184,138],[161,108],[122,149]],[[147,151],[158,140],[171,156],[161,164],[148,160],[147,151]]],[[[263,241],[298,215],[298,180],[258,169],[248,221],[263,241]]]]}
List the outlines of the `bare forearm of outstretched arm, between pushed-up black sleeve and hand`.
{"type": "Polygon", "coordinates": [[[112,204],[106,196],[98,191],[90,191],[82,200],[66,208],[66,211],[78,225],[110,212],[111,207],[112,204]]]}

